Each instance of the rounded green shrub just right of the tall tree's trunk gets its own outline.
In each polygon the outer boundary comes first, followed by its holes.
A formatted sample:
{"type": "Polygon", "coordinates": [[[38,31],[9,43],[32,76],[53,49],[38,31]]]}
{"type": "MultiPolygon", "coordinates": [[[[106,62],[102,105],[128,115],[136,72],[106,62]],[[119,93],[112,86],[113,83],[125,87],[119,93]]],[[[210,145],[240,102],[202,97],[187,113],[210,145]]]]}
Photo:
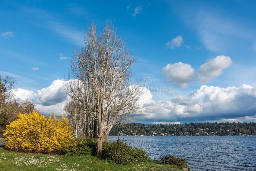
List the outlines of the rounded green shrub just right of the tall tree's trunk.
{"type": "Polygon", "coordinates": [[[144,162],[147,160],[146,151],[138,148],[132,148],[131,145],[127,145],[124,139],[121,141],[118,139],[116,142],[110,145],[108,156],[111,160],[118,164],[130,164],[132,162],[144,162]]]}

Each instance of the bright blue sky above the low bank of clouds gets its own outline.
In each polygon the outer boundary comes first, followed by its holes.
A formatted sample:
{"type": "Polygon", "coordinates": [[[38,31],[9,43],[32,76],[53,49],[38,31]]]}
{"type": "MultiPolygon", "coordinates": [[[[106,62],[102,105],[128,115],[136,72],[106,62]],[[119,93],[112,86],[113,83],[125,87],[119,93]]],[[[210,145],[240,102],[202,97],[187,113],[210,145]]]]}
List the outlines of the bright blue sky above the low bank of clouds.
{"type": "MultiPolygon", "coordinates": [[[[49,88],[54,80],[67,78],[72,44],[76,48],[83,45],[83,30],[93,21],[102,30],[105,20],[110,19],[115,21],[117,34],[127,42],[132,55],[139,57],[132,66],[135,77],[150,77],[152,81],[146,86],[152,94],[152,98],[148,97],[153,100],[150,103],[174,103],[178,96],[191,97],[191,92],[203,85],[221,87],[227,93],[227,87],[238,89],[245,84],[253,88],[253,94],[255,7],[254,1],[0,1],[0,72],[14,76],[16,88],[33,91],[37,100],[42,99],[38,90],[49,88]],[[224,57],[216,59],[217,56],[224,57]],[[216,63],[219,68],[214,67],[216,63]],[[152,86],[171,86],[172,94],[154,92],[152,86]]],[[[254,120],[256,101],[254,94],[251,96],[251,109],[237,109],[237,115],[226,116],[226,110],[222,110],[218,117],[203,118],[183,108],[182,117],[177,117],[181,114],[172,108],[163,119],[142,112],[138,120],[254,120]]],[[[207,108],[199,102],[198,105],[207,108]]],[[[204,109],[197,113],[207,113],[204,109]]],[[[50,107],[47,110],[52,112],[50,107]]]]}

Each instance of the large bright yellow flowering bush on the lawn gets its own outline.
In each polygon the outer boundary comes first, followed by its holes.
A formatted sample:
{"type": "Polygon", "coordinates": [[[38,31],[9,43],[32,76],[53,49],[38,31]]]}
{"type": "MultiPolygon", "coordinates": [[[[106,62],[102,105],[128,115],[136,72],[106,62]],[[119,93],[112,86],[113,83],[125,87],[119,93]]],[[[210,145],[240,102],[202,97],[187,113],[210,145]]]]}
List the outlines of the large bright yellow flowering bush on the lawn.
{"type": "Polygon", "coordinates": [[[66,117],[46,118],[38,112],[18,114],[4,130],[5,147],[19,152],[51,153],[72,143],[73,128],[66,117]]]}

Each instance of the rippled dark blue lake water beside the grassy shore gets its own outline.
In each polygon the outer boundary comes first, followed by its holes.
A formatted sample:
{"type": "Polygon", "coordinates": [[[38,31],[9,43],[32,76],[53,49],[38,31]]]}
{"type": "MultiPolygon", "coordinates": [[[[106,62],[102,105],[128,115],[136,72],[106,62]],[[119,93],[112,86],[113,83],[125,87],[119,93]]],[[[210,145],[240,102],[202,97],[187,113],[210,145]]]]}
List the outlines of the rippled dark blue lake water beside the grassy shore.
{"type": "MultiPolygon", "coordinates": [[[[109,136],[108,141],[117,140],[109,136]]],[[[159,159],[172,154],[188,160],[191,170],[256,171],[256,136],[126,136],[133,147],[159,159]]]]}

